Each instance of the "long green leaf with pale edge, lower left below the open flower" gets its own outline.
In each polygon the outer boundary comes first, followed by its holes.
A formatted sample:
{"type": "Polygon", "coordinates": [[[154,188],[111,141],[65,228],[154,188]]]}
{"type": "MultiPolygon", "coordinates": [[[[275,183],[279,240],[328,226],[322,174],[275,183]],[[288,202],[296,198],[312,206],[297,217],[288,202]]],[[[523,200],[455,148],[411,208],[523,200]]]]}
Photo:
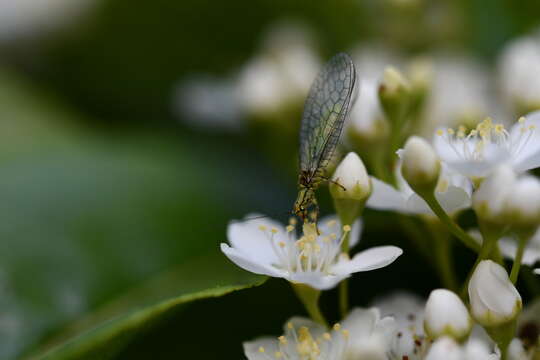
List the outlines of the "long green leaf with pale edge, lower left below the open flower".
{"type": "Polygon", "coordinates": [[[142,332],[190,302],[258,286],[265,280],[237,269],[222,254],[205,256],[123,295],[71,326],[29,358],[111,359],[142,332]]]}

